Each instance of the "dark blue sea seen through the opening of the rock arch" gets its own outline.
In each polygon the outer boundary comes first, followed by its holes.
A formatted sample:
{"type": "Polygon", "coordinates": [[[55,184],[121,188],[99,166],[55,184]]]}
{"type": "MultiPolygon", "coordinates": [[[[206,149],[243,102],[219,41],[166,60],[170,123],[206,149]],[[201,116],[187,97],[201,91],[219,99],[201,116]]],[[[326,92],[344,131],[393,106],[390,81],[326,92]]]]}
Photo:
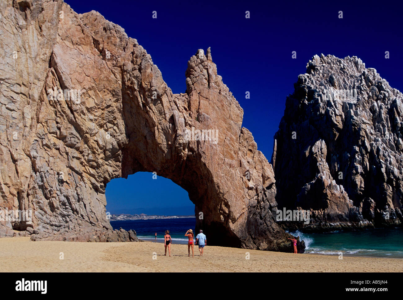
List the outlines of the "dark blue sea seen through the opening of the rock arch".
{"type": "Polygon", "coordinates": [[[157,232],[157,242],[162,243],[164,242],[165,230],[169,230],[172,243],[187,244],[189,239],[185,236],[186,230],[191,229],[193,234],[195,233],[196,218],[110,221],[110,224],[113,229],[120,227],[125,230],[133,229],[138,238],[153,242],[155,242],[155,233],[157,232]]]}

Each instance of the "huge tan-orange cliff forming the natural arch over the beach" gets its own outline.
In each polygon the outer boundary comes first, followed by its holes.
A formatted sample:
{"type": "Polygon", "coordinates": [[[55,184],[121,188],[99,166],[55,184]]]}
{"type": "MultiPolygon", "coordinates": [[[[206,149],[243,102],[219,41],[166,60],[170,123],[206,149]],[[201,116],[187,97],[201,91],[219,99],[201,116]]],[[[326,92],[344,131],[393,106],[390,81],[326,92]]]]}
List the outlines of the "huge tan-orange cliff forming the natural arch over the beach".
{"type": "Polygon", "coordinates": [[[105,187],[148,171],[189,192],[210,245],[292,251],[271,213],[272,166],[241,126],[210,49],[189,60],[186,92],[172,94],[143,47],[98,12],[0,5],[0,209],[33,211],[32,224],[2,222],[1,236],[135,240],[112,231],[105,187]]]}

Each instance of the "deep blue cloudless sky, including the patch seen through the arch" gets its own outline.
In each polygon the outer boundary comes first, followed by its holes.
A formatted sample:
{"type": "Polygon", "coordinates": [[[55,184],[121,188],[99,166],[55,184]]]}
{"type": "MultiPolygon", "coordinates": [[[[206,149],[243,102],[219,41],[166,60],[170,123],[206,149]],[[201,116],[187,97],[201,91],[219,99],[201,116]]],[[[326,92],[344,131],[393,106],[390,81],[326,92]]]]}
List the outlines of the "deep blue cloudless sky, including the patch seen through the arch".
{"type": "MultiPolygon", "coordinates": [[[[218,74],[244,109],[243,126],[268,160],[285,98],[314,54],[356,55],[392,87],[403,90],[399,1],[281,2],[66,0],[78,13],[97,10],[137,39],[174,93],[185,92],[191,55],[211,47],[218,74]],[[245,18],[246,10],[250,19],[245,18]],[[343,19],[338,18],[339,10],[343,19]],[[292,51],[297,51],[297,59],[291,59],[292,51]],[[390,59],[384,58],[385,51],[390,59]],[[245,91],[251,99],[245,99],[245,91]]],[[[170,180],[151,177],[137,173],[112,180],[106,187],[107,209],[130,213],[135,208],[192,205],[187,193],[178,195],[181,188],[170,180]],[[141,192],[159,187],[161,195],[141,192]]]]}

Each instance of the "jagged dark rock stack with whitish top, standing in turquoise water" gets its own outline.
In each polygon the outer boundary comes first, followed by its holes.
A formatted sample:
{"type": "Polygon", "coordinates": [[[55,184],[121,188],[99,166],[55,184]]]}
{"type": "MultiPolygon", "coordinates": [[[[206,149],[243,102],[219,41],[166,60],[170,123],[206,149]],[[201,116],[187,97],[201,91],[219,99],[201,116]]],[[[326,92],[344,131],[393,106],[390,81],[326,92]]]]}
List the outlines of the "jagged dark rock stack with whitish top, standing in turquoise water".
{"type": "Polygon", "coordinates": [[[323,54],[294,86],[274,137],[278,208],[311,210],[305,229],[401,224],[401,92],[356,57],[323,54]],[[356,101],[334,93],[354,89],[356,101]]]}

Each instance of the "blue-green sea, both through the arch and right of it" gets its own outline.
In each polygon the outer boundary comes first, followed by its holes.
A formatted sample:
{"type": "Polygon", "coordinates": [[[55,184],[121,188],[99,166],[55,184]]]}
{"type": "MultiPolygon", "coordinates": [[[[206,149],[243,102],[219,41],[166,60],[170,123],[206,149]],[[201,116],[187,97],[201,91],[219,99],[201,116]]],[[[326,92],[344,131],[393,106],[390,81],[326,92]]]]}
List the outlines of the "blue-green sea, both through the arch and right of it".
{"type": "MultiPolygon", "coordinates": [[[[165,230],[169,230],[174,244],[187,244],[185,232],[195,231],[195,218],[110,221],[114,229],[133,229],[143,240],[164,242],[165,230]]],[[[290,232],[305,242],[305,253],[366,257],[391,257],[403,259],[403,228],[380,228],[349,232],[305,234],[290,232]]]]}

